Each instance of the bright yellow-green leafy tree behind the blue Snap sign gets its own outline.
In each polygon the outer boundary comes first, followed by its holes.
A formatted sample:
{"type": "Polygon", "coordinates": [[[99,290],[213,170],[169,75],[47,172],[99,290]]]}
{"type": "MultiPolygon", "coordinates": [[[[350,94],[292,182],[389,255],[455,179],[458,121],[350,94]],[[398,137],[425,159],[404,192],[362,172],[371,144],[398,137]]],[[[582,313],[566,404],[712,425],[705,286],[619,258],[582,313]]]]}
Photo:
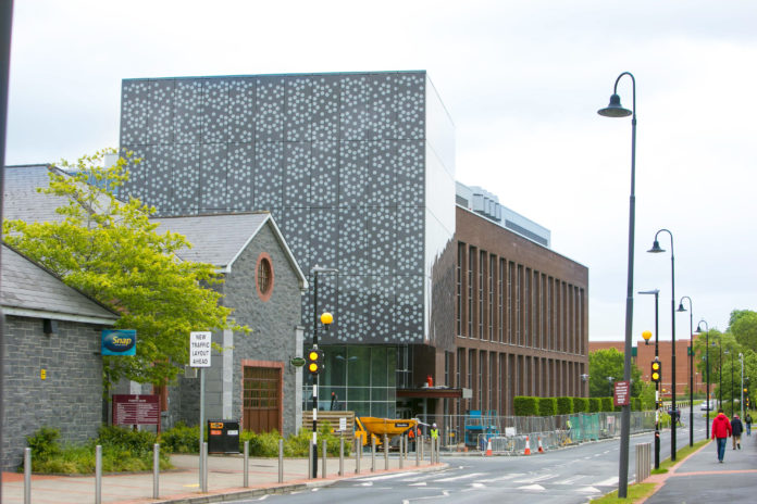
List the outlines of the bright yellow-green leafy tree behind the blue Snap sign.
{"type": "Polygon", "coordinates": [[[57,223],[3,223],[7,241],[59,275],[63,281],[121,314],[116,328],[137,330],[136,356],[103,356],[106,389],[121,378],[162,385],[188,362],[193,330],[249,330],[229,322],[231,310],[212,289],[222,281],[210,264],[179,261],[190,244],[177,234],[156,232],[154,209],[113,194],[138,163],[131,153],[101,167],[106,149],[63,161],[67,175],[50,172],[51,197],[67,199],[57,223]],[[90,184],[91,182],[91,184],[90,184]]]}

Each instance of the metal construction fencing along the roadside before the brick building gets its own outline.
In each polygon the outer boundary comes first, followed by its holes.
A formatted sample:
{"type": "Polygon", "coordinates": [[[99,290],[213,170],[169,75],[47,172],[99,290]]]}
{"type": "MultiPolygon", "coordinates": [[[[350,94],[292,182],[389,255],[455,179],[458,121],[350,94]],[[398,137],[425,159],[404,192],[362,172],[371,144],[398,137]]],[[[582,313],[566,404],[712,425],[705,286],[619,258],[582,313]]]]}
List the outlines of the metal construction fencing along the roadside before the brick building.
{"type": "MultiPolygon", "coordinates": [[[[442,451],[522,455],[570,444],[620,437],[620,413],[578,413],[547,417],[497,416],[472,411],[469,415],[420,415],[423,424],[436,424],[442,451]]],[[[631,433],[655,430],[655,412],[631,412],[631,433]]]]}

